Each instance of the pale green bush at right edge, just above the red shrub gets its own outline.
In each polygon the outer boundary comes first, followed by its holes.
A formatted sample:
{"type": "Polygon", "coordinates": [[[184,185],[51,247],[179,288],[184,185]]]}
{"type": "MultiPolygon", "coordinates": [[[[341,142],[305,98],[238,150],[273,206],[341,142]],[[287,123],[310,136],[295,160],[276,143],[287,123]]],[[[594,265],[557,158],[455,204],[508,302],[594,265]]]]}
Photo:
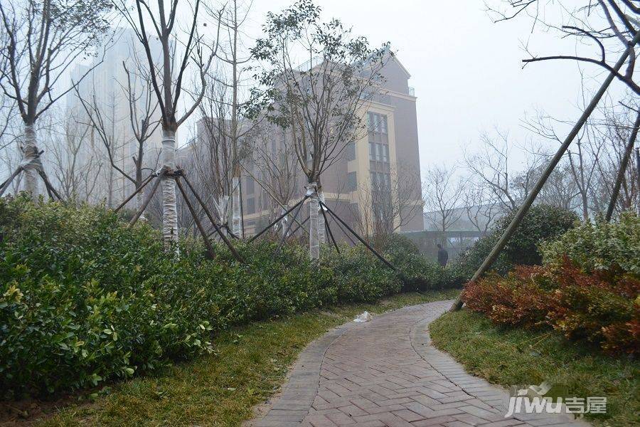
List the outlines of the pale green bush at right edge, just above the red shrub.
{"type": "Polygon", "coordinates": [[[617,221],[581,223],[544,243],[542,253],[545,265],[559,267],[567,257],[585,273],[624,272],[640,278],[640,217],[624,212],[617,221]]]}

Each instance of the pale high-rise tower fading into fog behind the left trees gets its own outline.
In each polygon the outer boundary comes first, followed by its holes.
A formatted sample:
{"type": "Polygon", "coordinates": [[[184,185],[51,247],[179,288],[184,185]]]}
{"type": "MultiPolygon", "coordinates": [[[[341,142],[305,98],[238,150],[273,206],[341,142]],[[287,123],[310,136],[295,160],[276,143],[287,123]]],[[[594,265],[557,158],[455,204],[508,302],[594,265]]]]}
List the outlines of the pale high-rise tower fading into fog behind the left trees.
{"type": "MultiPolygon", "coordinates": [[[[154,38],[150,38],[149,41],[151,54],[159,58],[160,44],[154,38]]],[[[137,156],[137,140],[130,121],[131,111],[127,92],[124,90],[127,88],[127,73],[124,70],[124,65],[127,65],[127,68],[133,73],[138,68],[136,60],[145,65],[146,56],[131,28],[119,28],[114,36],[105,43],[108,43],[105,45],[107,48],[105,57],[95,58],[94,62],[89,65],[76,65],[71,71],[71,78],[78,81],[82,76],[85,76],[78,85],[78,92],[88,105],[95,104],[100,109],[105,131],[114,142],[112,147],[114,163],[127,174],[135,176],[132,157],[137,156]]],[[[132,78],[132,85],[134,93],[137,94],[136,107],[138,114],[140,114],[146,108],[146,85],[139,78],[132,78]]],[[[151,99],[155,100],[153,93],[151,96],[151,99]]],[[[77,117],[76,120],[79,122],[90,122],[82,103],[73,91],[67,95],[67,108],[69,114],[77,117]]],[[[159,108],[156,108],[151,120],[155,121],[159,118],[159,108]]],[[[97,131],[90,130],[86,137],[89,139],[87,144],[91,144],[92,149],[100,154],[100,163],[102,164],[100,181],[98,181],[94,199],[110,201],[112,206],[117,206],[120,201],[134,191],[135,186],[110,166],[107,151],[97,135],[97,131]]],[[[151,168],[155,166],[160,148],[161,132],[157,128],[146,141],[146,166],[151,168]]],[[[131,202],[132,205],[134,203],[135,201],[131,202]]]]}

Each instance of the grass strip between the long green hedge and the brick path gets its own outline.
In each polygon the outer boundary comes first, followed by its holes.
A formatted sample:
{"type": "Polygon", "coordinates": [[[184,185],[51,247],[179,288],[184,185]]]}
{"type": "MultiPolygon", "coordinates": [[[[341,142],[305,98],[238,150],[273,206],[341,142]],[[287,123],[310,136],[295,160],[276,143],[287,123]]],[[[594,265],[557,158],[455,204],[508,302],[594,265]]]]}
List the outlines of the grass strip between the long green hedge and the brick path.
{"type": "Polygon", "coordinates": [[[114,384],[90,404],[66,406],[40,426],[240,426],[277,391],[306,344],[364,310],[446,300],[457,290],[406,293],[377,304],[341,305],[257,322],[215,338],[215,354],[114,384]]]}

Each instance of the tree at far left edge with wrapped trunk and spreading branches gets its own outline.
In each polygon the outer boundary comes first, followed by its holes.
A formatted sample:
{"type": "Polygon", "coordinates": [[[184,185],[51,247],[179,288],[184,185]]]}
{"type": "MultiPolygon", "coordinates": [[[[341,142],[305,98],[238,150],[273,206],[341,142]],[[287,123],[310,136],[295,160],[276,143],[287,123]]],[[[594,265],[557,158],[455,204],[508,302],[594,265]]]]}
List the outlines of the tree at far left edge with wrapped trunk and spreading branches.
{"type": "Polygon", "coordinates": [[[39,158],[36,120],[78,83],[60,87],[68,67],[80,56],[91,54],[109,28],[105,15],[110,9],[109,0],[0,4],[5,36],[0,55],[6,65],[0,68],[0,87],[16,102],[23,121],[21,169],[26,175],[25,188],[34,199],[38,198],[38,175],[46,177],[39,158]]]}

